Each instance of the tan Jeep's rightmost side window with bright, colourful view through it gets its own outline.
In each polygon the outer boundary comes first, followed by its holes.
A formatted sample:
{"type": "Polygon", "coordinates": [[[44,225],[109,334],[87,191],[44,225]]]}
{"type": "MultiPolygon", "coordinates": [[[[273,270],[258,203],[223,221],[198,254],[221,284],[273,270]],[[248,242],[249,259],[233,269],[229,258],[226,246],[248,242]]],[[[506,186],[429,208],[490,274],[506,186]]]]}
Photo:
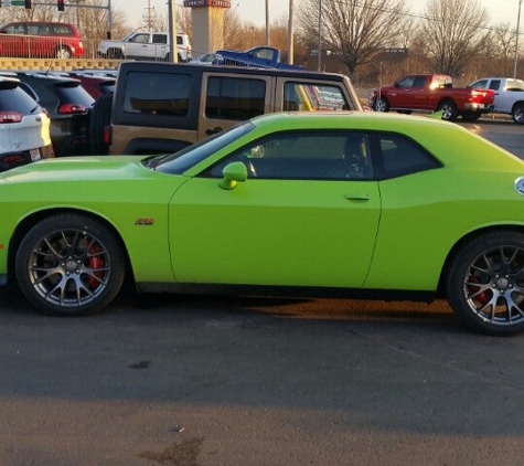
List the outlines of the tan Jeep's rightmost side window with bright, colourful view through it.
{"type": "Polygon", "coordinates": [[[309,83],[284,85],[285,112],[345,110],[350,106],[338,86],[309,83]]]}

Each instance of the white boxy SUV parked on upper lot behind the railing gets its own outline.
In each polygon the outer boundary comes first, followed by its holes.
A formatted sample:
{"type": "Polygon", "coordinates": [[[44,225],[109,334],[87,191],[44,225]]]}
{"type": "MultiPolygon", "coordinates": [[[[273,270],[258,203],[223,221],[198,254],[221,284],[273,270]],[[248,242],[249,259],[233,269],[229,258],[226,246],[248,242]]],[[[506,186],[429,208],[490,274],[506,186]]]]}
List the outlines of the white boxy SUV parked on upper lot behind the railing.
{"type": "MultiPolygon", "coordinates": [[[[178,61],[189,62],[192,59],[188,34],[177,34],[178,61]]],[[[103,59],[138,59],[170,61],[168,32],[133,31],[119,41],[100,41],[97,53],[103,59]]]]}

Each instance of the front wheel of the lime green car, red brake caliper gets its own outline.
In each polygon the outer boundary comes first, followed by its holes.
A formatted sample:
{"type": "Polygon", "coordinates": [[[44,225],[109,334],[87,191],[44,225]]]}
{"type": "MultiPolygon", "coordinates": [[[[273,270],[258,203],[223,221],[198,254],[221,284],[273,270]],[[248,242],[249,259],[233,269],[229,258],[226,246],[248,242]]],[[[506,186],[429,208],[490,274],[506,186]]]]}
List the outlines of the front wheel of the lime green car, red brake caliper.
{"type": "Polygon", "coordinates": [[[57,214],[34,225],[17,252],[17,279],[40,311],[77,316],[100,311],[120,290],[125,256],[103,223],[57,214]]]}

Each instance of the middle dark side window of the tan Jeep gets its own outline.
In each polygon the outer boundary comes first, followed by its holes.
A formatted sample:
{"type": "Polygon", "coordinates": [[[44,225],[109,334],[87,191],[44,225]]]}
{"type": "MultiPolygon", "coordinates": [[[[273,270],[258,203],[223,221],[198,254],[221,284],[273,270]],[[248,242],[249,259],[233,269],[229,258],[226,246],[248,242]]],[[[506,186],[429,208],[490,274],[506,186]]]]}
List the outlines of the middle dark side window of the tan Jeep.
{"type": "Polygon", "coordinates": [[[264,114],[266,82],[239,77],[210,77],[205,116],[245,120],[264,114]]]}

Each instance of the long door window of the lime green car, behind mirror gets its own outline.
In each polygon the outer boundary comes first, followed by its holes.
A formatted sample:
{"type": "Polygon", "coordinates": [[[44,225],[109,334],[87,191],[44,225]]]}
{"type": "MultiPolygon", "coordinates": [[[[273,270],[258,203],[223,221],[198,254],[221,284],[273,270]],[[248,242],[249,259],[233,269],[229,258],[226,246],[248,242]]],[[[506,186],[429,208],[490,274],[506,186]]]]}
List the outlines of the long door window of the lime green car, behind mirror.
{"type": "Polygon", "coordinates": [[[360,131],[282,133],[239,149],[213,167],[212,177],[232,161],[246,165],[249,178],[289,180],[370,180],[368,136],[360,131]]]}

